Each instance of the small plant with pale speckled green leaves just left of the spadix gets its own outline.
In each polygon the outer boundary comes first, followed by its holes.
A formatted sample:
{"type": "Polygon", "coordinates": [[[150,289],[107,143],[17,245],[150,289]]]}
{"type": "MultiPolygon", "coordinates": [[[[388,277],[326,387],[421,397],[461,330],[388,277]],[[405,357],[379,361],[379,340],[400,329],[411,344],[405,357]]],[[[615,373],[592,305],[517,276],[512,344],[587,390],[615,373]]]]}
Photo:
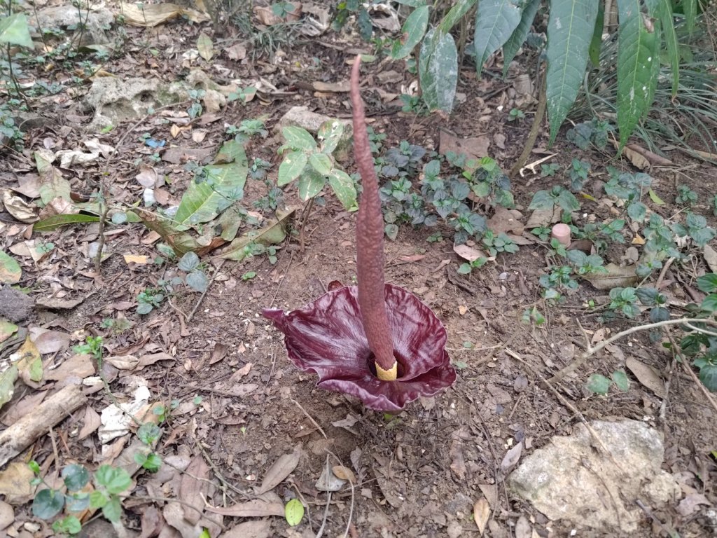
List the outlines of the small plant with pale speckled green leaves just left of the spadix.
{"type": "Polygon", "coordinates": [[[304,201],[318,195],[328,183],[343,207],[356,209],[356,187],[351,177],[336,167],[333,152],[343,135],[343,123],[330,120],[318,130],[317,143],[303,128],[288,126],[282,129],[286,141],[279,148],[284,154],[279,165],[277,186],[282,187],[298,179],[299,197],[304,201]]]}

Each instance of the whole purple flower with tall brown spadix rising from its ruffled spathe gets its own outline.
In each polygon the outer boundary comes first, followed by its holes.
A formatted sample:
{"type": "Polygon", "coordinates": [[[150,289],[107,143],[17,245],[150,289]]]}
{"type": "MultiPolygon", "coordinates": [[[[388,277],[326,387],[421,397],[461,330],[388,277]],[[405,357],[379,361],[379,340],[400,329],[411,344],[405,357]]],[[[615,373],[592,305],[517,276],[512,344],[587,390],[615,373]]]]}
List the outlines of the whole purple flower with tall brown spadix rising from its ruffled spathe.
{"type": "Polygon", "coordinates": [[[284,333],[291,361],[316,372],[318,386],[358,397],[367,407],[397,412],[455,381],[446,331],[417,297],[384,283],[384,220],[359,93],[359,62],[351,73],[353,148],[361,174],[356,218],[357,286],[329,291],[297,310],[267,308],[284,333]]]}

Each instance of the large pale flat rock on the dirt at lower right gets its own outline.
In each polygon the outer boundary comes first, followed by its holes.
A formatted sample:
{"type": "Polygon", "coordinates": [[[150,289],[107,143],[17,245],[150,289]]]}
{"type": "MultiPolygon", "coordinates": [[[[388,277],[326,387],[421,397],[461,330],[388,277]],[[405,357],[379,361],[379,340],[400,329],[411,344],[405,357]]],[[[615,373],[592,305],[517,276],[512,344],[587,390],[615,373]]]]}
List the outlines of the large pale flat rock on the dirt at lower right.
{"type": "Polygon", "coordinates": [[[673,476],[660,468],[665,455],[662,435],[636,420],[591,425],[612,460],[602,456],[579,424],[573,435],[556,436],[528,456],[508,485],[549,519],[634,532],[645,515],[635,499],[655,506],[680,496],[673,476]]]}

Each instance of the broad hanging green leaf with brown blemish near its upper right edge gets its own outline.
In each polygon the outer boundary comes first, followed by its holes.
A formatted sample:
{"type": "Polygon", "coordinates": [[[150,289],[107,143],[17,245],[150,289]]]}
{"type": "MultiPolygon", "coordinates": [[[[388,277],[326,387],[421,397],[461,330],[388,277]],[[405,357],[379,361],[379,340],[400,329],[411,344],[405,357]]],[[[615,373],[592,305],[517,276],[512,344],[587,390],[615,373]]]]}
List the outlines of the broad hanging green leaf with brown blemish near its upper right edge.
{"type": "Polygon", "coordinates": [[[620,133],[619,151],[622,151],[655,96],[657,71],[660,68],[660,39],[659,27],[645,27],[640,0],[617,0],[617,9],[620,20],[617,42],[617,126],[620,133]]]}

